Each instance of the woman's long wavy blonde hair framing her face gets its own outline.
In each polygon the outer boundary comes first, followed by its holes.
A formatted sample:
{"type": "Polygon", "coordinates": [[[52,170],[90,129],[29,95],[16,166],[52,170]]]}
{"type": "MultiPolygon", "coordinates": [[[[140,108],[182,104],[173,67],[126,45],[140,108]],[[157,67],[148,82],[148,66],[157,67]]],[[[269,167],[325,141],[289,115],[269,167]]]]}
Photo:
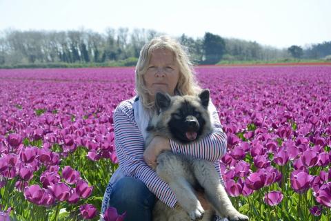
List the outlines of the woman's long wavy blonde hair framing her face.
{"type": "Polygon", "coordinates": [[[143,75],[147,71],[153,50],[159,48],[170,50],[179,65],[179,80],[175,88],[176,93],[179,95],[197,95],[201,91],[201,87],[197,84],[192,62],[183,46],[168,36],[155,37],[141,48],[135,70],[136,93],[146,108],[154,107],[154,102],[148,99],[150,91],[146,88],[143,75]]]}

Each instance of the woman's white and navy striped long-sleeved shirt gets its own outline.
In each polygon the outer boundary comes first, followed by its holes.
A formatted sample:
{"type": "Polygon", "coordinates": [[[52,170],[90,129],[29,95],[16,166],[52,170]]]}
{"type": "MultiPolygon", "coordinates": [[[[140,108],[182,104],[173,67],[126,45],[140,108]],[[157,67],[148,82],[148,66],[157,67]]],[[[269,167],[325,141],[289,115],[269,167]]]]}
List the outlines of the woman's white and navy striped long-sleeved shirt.
{"type": "MultiPolygon", "coordinates": [[[[134,120],[133,102],[134,97],[123,101],[114,111],[115,149],[119,160],[119,168],[121,168],[124,175],[141,180],[159,200],[174,208],[177,199],[170,186],[161,180],[143,159],[144,140],[134,120]]],[[[219,159],[226,152],[227,139],[221,128],[217,110],[212,102],[210,102],[210,105],[212,105],[212,133],[203,137],[199,142],[192,144],[178,144],[170,140],[170,147],[173,153],[192,155],[214,162],[220,181],[223,184],[219,159]]]]}

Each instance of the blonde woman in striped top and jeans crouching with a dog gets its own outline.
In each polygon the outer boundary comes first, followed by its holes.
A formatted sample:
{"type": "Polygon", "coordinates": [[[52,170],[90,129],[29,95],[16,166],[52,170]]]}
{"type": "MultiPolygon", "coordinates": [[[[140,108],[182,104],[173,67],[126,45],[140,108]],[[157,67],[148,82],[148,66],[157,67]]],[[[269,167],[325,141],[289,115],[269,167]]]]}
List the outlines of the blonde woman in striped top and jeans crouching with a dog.
{"type": "MultiPolygon", "coordinates": [[[[196,95],[201,88],[194,77],[192,64],[181,45],[170,37],[156,37],[143,46],[135,70],[137,96],[121,102],[114,111],[115,148],[119,169],[110,179],[103,197],[101,215],[108,206],[118,213],[126,212],[126,220],[152,220],[155,200],[171,208],[177,204],[172,190],[155,172],[156,158],[162,150],[193,155],[214,162],[226,151],[226,136],[221,129],[217,110],[210,102],[213,131],[194,144],[177,144],[173,140],[154,137],[146,150],[145,128],[154,108],[154,94],[196,95]]],[[[220,175],[220,180],[221,179],[220,175]]],[[[199,200],[203,201],[201,195],[199,200]]],[[[203,204],[203,202],[202,202],[203,204]]]]}

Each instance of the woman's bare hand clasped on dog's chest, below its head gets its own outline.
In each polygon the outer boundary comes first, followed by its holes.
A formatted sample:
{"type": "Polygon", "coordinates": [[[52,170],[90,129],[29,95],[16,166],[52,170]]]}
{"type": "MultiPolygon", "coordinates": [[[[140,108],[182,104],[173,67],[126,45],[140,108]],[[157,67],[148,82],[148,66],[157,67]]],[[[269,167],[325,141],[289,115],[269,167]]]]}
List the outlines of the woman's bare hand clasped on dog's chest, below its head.
{"type": "Polygon", "coordinates": [[[168,138],[155,136],[147,146],[145,152],[143,152],[143,158],[146,164],[155,170],[157,168],[157,156],[163,150],[171,151],[168,138]]]}

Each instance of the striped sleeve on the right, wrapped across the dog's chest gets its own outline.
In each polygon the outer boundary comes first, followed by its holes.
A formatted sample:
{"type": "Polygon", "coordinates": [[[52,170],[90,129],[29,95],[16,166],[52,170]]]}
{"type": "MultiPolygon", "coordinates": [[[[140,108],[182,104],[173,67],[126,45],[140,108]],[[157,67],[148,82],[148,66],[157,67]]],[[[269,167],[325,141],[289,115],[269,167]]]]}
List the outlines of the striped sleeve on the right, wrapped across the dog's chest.
{"type": "Polygon", "coordinates": [[[215,162],[226,153],[227,137],[222,130],[219,115],[214,104],[210,101],[209,111],[212,115],[212,132],[203,137],[199,142],[179,144],[170,139],[170,148],[174,153],[192,155],[197,158],[215,162]]]}

